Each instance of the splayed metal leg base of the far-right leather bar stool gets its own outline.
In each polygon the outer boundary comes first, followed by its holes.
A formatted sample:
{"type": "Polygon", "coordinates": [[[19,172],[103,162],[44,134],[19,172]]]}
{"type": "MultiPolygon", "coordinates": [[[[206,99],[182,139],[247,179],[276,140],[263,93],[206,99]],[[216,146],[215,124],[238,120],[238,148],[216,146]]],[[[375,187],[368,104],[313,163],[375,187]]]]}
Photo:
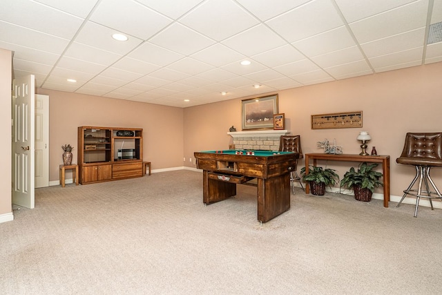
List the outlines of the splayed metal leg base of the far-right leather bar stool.
{"type": "Polygon", "coordinates": [[[437,189],[436,184],[434,184],[433,180],[430,177],[430,168],[431,166],[416,166],[416,176],[414,177],[414,180],[412,181],[410,186],[405,189],[405,191],[403,191],[403,197],[401,201],[398,202],[396,207],[399,207],[405,197],[407,195],[410,195],[416,197],[416,209],[414,209],[414,217],[417,217],[417,209],[419,207],[419,200],[421,198],[428,198],[428,200],[430,200],[431,209],[434,210],[432,199],[440,198],[442,200],[442,195],[439,192],[439,189],[437,189]],[[412,189],[418,178],[419,183],[417,189],[412,189]],[[422,182],[425,184],[425,190],[422,189],[422,182]],[[428,186],[428,182],[430,182],[434,191],[431,191],[430,187],[428,186]],[[422,193],[425,193],[425,195],[422,195],[422,193]]]}

